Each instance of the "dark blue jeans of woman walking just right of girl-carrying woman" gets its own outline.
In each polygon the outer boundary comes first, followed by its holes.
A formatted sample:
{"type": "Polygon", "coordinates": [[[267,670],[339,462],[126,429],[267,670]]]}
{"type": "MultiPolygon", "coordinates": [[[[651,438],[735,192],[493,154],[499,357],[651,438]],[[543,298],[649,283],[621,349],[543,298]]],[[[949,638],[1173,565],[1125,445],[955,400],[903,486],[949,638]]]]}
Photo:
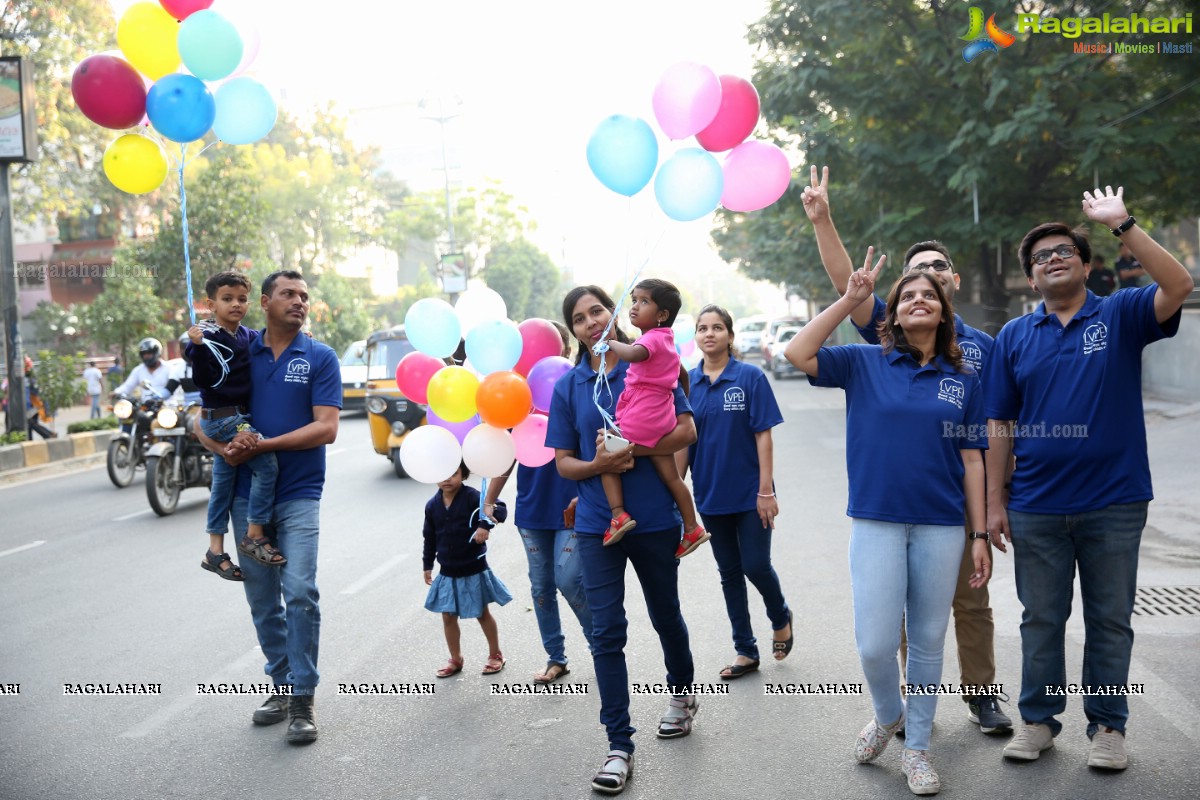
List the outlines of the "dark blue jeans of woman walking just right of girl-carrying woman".
{"type": "Polygon", "coordinates": [[[779,576],[770,565],[770,528],[763,528],[757,511],[742,513],[706,513],[704,528],[712,535],[709,545],[716,559],[725,594],[725,610],[733,627],[733,649],[739,656],[758,660],[758,644],[750,625],[750,599],[746,578],[762,595],[767,619],[775,631],[787,627],[787,601],[779,576]]]}

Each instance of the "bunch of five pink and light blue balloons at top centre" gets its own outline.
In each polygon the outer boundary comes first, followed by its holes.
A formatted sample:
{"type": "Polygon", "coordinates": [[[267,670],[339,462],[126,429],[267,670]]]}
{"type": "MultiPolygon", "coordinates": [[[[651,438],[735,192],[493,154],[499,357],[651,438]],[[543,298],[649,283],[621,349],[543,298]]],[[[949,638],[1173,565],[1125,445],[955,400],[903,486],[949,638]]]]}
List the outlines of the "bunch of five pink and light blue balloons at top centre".
{"type": "Polygon", "coordinates": [[[654,116],[674,140],[696,137],[660,167],[659,144],[644,120],[614,114],[588,140],[588,166],[607,188],[632,197],[654,178],[654,197],[672,219],[690,222],[724,205],[757,211],[780,197],[792,179],[784,151],[748,139],[758,124],[758,92],[734,76],[718,77],[690,61],[668,67],[654,88],[654,116]],[[728,151],[724,163],[714,152],[728,151]],[[655,170],[656,174],[655,174],[655,170]]]}

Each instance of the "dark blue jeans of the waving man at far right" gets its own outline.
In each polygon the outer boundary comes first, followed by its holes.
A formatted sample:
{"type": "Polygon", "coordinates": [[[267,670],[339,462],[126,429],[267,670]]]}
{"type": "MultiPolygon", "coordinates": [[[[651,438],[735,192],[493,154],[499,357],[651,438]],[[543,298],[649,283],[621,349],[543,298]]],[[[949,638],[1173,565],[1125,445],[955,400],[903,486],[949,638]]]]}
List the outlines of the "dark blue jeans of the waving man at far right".
{"type": "MultiPolygon", "coordinates": [[[[1074,599],[1075,565],[1084,601],[1084,686],[1124,686],[1133,652],[1133,599],[1138,548],[1147,503],[1110,505],[1076,515],[1008,512],[1021,614],[1021,699],[1026,722],[1050,726],[1067,708],[1066,694],[1048,686],[1067,682],[1067,618],[1074,599]]],[[[1124,733],[1129,703],[1123,694],[1084,697],[1087,735],[1100,726],[1124,733]]]]}

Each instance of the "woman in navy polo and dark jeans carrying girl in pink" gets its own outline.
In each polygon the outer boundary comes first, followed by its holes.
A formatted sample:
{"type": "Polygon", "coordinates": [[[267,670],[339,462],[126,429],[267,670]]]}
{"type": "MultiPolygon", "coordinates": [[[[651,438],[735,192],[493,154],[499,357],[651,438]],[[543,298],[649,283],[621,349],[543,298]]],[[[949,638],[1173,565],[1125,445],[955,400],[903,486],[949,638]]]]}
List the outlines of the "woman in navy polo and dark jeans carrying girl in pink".
{"type": "Polygon", "coordinates": [[[629,342],[617,325],[608,329],[614,308],[608,294],[594,285],[571,289],[563,300],[563,320],[578,339],[580,354],[575,369],[554,386],[546,432],[546,445],[554,449],[558,471],[578,485],[575,533],[583,564],[583,591],[592,608],[592,658],[600,690],[600,722],[608,734],[608,756],[593,778],[592,788],[607,794],[623,792],[634,769],[634,726],[625,664],[629,626],[625,567],[630,563],[662,644],[666,684],[672,692],[667,711],[659,722],[659,738],[686,736],[698,710],[688,688],[694,664],[688,626],[679,610],[679,561],[674,555],[683,519],[650,459],[634,458],[682,450],[695,441],[696,428],[688,399],[677,387],[676,429],[655,447],[632,446],[610,452],[596,446],[604,429],[598,404],[610,415],[616,411],[629,368],[612,350],[604,356],[592,353],[606,331],[612,338],[629,342]],[[602,381],[600,371],[605,375],[602,381]],[[637,529],[611,547],[604,547],[601,541],[612,516],[600,482],[604,473],[622,475],[625,507],[637,518],[637,529]]]}

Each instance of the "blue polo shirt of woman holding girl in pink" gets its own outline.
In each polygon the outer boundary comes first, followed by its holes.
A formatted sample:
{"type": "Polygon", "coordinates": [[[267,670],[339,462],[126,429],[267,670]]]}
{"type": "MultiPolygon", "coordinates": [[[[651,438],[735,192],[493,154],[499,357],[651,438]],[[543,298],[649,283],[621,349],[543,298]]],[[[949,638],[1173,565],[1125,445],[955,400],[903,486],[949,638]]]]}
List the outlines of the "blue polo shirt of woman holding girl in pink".
{"type": "MultiPolygon", "coordinates": [[[[629,363],[618,361],[608,373],[611,392],[602,392],[600,404],[613,415],[617,398],[625,387],[629,363]]],[[[554,384],[554,398],[550,403],[550,423],[546,428],[546,446],[557,450],[574,450],[581,461],[592,461],[596,453],[596,431],[604,427],[604,419],[592,399],[596,373],[584,359],[554,384]]],[[[674,390],[676,415],[691,414],[691,407],[683,390],[674,390]]],[[[671,493],[662,485],[649,458],[635,458],[634,469],[620,475],[625,489],[625,510],[637,521],[637,528],[626,536],[660,530],[678,530],[683,525],[679,510],[671,493]]],[[[577,485],[580,504],[575,509],[575,531],[600,535],[608,530],[612,511],[605,498],[599,475],[584,479],[577,485]]]]}

